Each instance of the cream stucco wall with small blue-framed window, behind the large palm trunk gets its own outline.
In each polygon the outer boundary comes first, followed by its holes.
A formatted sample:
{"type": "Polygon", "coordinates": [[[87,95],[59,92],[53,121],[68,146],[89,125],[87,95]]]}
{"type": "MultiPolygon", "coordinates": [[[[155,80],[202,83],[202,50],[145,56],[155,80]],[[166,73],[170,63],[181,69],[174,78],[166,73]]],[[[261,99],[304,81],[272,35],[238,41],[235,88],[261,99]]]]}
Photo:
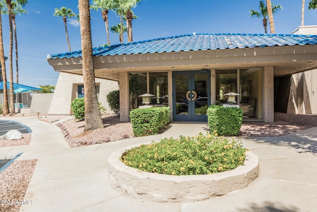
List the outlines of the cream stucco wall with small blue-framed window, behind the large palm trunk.
{"type": "MultiPolygon", "coordinates": [[[[100,78],[96,78],[95,81],[96,84],[100,85],[98,101],[106,108],[107,113],[112,113],[106,101],[106,95],[112,90],[119,89],[118,82],[100,78]]],[[[77,85],[79,84],[83,84],[82,75],[64,72],[59,73],[52,103],[49,109],[50,115],[72,114],[70,104],[71,101],[78,95],[77,85]]]]}

